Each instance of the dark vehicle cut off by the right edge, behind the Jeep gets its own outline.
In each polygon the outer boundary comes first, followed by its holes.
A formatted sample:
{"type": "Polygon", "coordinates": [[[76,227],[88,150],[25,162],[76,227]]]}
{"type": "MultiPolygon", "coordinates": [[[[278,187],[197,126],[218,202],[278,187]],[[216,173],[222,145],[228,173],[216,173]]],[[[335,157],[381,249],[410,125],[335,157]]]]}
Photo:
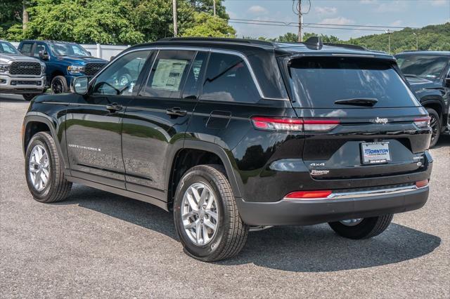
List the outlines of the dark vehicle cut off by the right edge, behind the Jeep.
{"type": "Polygon", "coordinates": [[[450,52],[406,51],[395,57],[412,90],[430,114],[430,147],[433,147],[441,133],[450,133],[450,52]]]}

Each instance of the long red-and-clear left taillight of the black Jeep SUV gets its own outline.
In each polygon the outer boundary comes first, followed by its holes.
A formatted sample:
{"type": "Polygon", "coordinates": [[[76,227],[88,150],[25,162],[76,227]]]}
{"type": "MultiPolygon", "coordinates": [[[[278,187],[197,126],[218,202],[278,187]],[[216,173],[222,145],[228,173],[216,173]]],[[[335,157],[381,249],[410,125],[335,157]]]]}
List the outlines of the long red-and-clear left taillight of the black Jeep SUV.
{"type": "Polygon", "coordinates": [[[252,124],[255,128],[268,131],[330,131],[340,121],[336,119],[291,119],[280,117],[252,117],[252,124]]]}

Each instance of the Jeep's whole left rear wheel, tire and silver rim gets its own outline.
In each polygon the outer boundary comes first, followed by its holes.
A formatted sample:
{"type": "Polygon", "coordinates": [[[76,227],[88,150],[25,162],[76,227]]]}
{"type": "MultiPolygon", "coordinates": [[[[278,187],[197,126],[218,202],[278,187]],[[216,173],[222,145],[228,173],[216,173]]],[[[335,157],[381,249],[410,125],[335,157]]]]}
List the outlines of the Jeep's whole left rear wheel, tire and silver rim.
{"type": "Polygon", "coordinates": [[[236,255],[248,237],[248,226],[218,165],[195,166],[181,178],[174,198],[174,222],[186,253],[205,262],[236,255]]]}

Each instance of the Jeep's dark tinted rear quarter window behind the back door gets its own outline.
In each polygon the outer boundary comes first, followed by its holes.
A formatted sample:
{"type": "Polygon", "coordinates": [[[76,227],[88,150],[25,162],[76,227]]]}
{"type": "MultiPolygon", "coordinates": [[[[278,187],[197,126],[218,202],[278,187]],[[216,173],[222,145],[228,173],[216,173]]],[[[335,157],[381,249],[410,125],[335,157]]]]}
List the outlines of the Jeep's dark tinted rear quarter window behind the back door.
{"type": "Polygon", "coordinates": [[[243,58],[211,53],[202,100],[257,102],[259,98],[255,82],[243,58]]]}

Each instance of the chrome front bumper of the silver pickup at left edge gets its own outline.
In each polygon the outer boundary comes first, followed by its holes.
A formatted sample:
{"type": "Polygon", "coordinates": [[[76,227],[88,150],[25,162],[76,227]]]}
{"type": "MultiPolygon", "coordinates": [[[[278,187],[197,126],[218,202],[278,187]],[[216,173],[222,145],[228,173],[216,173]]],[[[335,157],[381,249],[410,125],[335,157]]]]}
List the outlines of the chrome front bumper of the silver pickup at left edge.
{"type": "Polygon", "coordinates": [[[1,93],[42,93],[45,84],[45,76],[25,78],[0,75],[1,93]]]}

